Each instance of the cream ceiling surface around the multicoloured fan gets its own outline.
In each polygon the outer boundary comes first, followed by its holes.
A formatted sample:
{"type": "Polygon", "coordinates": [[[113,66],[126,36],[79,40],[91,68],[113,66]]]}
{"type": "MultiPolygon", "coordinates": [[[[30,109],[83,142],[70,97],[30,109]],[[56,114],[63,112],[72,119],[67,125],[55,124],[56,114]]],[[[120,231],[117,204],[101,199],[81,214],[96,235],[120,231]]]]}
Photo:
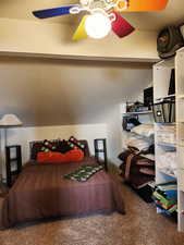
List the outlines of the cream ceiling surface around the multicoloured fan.
{"type": "MultiPolygon", "coordinates": [[[[39,22],[76,23],[79,15],[54,17],[50,20],[36,20],[33,10],[49,9],[71,3],[77,0],[0,0],[0,17],[23,19],[39,22]]],[[[124,13],[123,16],[138,29],[159,30],[165,25],[184,22],[184,0],[169,0],[169,4],[161,12],[124,13]]]]}

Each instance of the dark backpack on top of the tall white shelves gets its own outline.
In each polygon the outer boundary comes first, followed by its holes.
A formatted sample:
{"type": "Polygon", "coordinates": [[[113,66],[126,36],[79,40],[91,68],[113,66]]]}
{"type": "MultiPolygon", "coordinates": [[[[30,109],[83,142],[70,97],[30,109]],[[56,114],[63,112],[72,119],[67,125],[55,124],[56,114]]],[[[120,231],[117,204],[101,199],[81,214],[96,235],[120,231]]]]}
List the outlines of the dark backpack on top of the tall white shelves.
{"type": "Polygon", "coordinates": [[[157,51],[161,59],[174,57],[176,50],[184,46],[184,38],[177,26],[163,28],[157,38],[157,51]]]}

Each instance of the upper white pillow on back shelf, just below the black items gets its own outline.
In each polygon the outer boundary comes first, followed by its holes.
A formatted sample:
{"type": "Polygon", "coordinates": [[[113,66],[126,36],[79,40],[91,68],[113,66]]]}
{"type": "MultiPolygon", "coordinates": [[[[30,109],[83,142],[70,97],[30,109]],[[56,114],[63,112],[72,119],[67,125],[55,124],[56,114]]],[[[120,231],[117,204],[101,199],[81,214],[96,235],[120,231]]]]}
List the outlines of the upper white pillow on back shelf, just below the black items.
{"type": "Polygon", "coordinates": [[[132,128],[131,132],[150,138],[155,134],[154,124],[140,124],[132,128]]]}

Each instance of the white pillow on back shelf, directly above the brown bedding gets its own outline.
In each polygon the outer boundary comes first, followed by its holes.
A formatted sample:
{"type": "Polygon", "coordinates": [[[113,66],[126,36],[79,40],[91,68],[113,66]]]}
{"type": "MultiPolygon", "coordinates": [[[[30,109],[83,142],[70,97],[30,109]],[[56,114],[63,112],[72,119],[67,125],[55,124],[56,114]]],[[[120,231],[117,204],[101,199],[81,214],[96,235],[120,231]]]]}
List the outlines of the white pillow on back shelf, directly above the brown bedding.
{"type": "Polygon", "coordinates": [[[154,144],[154,139],[147,139],[139,135],[131,133],[130,137],[125,142],[127,148],[134,148],[138,151],[148,150],[149,147],[154,144]]]}

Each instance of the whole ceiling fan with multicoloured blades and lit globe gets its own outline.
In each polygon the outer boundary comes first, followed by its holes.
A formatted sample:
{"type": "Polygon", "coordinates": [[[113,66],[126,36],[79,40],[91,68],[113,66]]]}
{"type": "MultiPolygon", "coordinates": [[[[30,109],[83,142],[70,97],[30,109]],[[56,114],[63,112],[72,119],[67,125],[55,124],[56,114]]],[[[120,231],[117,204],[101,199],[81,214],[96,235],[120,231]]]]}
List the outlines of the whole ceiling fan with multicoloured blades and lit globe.
{"type": "Polygon", "coordinates": [[[86,12],[73,40],[106,37],[112,30],[122,38],[134,32],[134,27],[119,12],[161,11],[169,0],[79,0],[78,4],[33,11],[38,19],[48,19],[86,12]]]}

